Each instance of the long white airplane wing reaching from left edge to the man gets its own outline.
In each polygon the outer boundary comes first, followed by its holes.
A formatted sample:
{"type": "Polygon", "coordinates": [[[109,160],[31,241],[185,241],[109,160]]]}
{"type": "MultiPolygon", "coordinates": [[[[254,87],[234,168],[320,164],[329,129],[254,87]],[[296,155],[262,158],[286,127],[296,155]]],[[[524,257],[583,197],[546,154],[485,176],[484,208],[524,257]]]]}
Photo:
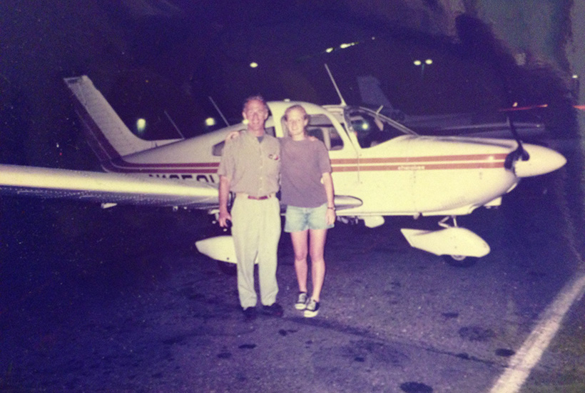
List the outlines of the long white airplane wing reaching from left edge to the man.
{"type": "Polygon", "coordinates": [[[218,207],[218,187],[202,181],[5,164],[0,164],[0,194],[103,204],[218,207]]]}

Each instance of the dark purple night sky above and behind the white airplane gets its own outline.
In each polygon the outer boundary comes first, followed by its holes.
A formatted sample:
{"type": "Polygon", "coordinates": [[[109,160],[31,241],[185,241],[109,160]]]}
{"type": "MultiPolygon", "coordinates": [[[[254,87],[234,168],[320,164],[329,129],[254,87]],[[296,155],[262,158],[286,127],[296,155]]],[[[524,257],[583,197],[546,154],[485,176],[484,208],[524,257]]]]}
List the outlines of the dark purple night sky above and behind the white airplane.
{"type": "MultiPolygon", "coordinates": [[[[233,121],[250,94],[336,104],[325,63],[350,104],[360,103],[356,77],[368,74],[382,81],[395,106],[411,114],[507,104],[501,67],[494,66],[497,49],[431,36],[422,30],[434,29],[432,23],[422,23],[424,18],[402,2],[395,4],[402,17],[392,19],[331,1],[253,1],[245,7],[188,0],[84,1],[83,6],[73,0],[59,6],[2,1],[0,161],[95,168],[62,81],[80,74],[91,77],[128,126],[146,118],[149,139],[177,136],[164,111],[185,136],[204,132],[205,117],[219,119],[208,96],[233,121]],[[350,42],[357,45],[325,53],[350,42]],[[412,65],[419,57],[434,59],[424,78],[412,65]],[[251,61],[258,68],[251,69],[251,61]]],[[[440,11],[433,4],[428,2],[431,15],[440,11]]],[[[539,76],[527,79],[514,64],[506,66],[523,87],[516,89],[522,94],[515,101],[563,101],[556,80],[547,82],[546,90],[527,89],[541,86],[534,83],[539,76]]]]}

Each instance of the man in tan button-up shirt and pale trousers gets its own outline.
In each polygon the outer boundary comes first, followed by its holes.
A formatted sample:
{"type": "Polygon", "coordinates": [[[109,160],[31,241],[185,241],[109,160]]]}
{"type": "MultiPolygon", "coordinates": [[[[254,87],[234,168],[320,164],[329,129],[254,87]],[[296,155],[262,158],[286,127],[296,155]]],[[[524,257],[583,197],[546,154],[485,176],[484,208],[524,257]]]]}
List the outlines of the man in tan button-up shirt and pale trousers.
{"type": "Polygon", "coordinates": [[[261,96],[248,98],[242,114],[248,128],[240,133],[239,138],[226,141],[218,169],[219,223],[226,227],[228,220],[233,222],[238,295],[245,319],[256,316],[256,259],[263,312],[282,317],[283,307],[276,303],[280,202],[275,194],[279,188],[280,143],[265,133],[268,106],[261,96]],[[228,212],[230,191],[235,193],[231,213],[228,212]]]}

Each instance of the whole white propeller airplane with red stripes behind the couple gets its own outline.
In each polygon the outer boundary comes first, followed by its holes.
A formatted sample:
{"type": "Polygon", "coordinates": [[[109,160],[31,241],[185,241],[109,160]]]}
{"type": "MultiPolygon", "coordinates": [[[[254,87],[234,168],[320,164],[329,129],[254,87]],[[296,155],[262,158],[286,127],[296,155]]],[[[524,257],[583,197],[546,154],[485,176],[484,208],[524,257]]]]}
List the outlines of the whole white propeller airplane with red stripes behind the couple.
{"type": "MultiPolygon", "coordinates": [[[[327,69],[328,71],[328,69],[327,69]]],[[[441,216],[439,229],[401,229],[412,247],[455,261],[484,257],[489,245],[457,226],[457,216],[497,207],[520,179],[559,169],[554,150],[513,139],[420,136],[376,111],[340,105],[270,101],[266,130],[286,136],[285,109],[301,104],[309,133],[332,164],[340,220],[377,227],[386,216],[441,216]]],[[[106,173],[0,165],[0,193],[116,204],[149,204],[218,213],[218,169],[235,124],[190,139],[144,141],[135,136],[87,76],[65,79],[93,151],[106,173]]],[[[200,252],[235,263],[230,237],[197,242],[200,252]]]]}

